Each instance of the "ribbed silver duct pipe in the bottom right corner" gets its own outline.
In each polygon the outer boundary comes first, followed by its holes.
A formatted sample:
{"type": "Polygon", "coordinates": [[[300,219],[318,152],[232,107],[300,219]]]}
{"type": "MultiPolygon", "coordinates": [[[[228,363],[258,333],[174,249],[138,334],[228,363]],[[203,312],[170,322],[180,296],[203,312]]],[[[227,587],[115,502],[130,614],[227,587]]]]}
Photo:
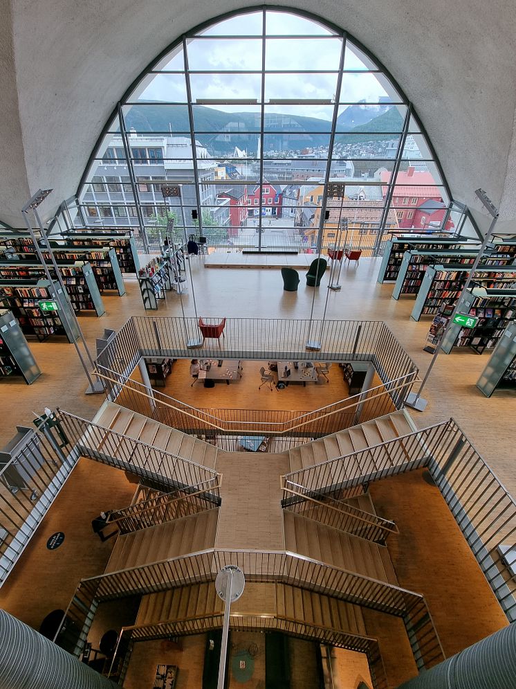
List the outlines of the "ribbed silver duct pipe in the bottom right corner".
{"type": "Polygon", "coordinates": [[[398,689],[510,689],[516,687],[516,622],[468,646],[398,689]]]}

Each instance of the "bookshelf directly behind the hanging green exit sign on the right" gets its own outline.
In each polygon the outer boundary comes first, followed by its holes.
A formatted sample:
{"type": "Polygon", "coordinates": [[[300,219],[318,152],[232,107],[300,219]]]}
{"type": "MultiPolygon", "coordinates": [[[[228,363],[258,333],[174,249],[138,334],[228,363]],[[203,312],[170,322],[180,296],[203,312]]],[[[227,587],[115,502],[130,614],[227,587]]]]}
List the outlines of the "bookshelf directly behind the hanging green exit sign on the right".
{"type": "Polygon", "coordinates": [[[452,323],[442,343],[442,350],[450,354],[453,347],[470,347],[477,354],[497,345],[508,323],[516,318],[516,287],[505,289],[468,289],[459,306],[459,312],[478,316],[474,328],[461,328],[452,323]]]}

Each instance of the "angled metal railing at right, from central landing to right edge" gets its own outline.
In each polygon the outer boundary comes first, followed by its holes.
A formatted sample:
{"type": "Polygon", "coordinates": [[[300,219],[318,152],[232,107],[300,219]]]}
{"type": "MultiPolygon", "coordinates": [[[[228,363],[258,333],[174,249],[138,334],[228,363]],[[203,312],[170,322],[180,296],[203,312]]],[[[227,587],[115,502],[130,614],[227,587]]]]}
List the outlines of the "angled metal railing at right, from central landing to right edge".
{"type": "Polygon", "coordinates": [[[395,440],[300,469],[282,478],[291,492],[311,498],[354,494],[386,476],[427,467],[510,622],[516,621],[516,581],[502,546],[516,540],[516,502],[457,422],[436,424],[395,440]]]}

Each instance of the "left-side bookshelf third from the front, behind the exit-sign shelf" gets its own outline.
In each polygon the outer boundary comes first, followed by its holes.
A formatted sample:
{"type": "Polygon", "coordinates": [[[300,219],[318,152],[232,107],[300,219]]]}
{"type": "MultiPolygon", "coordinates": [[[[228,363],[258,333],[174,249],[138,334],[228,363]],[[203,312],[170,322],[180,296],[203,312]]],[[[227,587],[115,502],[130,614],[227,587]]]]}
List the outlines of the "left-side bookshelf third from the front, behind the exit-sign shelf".
{"type": "MultiPolygon", "coordinates": [[[[75,313],[95,311],[98,316],[102,316],[106,310],[91,265],[68,264],[59,265],[58,268],[75,313]]],[[[55,277],[53,266],[50,267],[50,274],[55,277]]],[[[0,285],[5,280],[10,285],[16,284],[18,280],[23,284],[25,280],[37,280],[44,275],[44,268],[39,262],[0,262],[0,285]]]]}

